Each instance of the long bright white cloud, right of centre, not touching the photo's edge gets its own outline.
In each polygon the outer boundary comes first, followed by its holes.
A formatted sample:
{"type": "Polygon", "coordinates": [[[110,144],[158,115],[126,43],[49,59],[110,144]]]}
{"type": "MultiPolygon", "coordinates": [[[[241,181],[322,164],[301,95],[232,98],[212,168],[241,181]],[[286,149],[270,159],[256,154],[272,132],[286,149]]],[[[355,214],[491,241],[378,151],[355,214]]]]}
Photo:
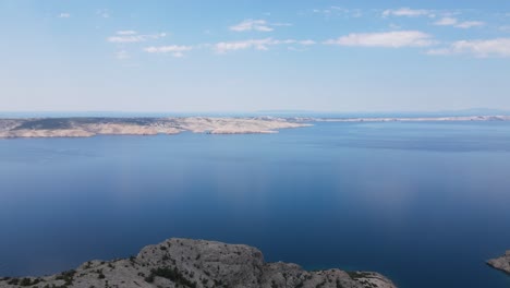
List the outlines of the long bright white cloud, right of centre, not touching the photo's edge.
{"type": "Polygon", "coordinates": [[[425,47],[435,41],[426,33],[418,31],[397,31],[384,33],[353,33],[338,39],[330,39],[325,44],[361,47],[425,47]]]}

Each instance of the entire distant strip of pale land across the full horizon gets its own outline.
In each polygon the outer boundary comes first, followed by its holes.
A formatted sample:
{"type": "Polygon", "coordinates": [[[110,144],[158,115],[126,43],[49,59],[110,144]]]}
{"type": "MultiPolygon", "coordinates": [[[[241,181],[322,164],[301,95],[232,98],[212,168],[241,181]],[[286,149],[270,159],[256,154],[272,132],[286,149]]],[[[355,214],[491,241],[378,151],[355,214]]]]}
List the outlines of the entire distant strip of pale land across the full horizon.
{"type": "Polygon", "coordinates": [[[181,132],[209,134],[277,133],[314,122],[445,122],[510,121],[510,116],[417,118],[313,118],[313,117],[171,117],[171,118],[21,118],[0,119],[0,139],[89,137],[95,135],[157,135],[181,132]]]}

